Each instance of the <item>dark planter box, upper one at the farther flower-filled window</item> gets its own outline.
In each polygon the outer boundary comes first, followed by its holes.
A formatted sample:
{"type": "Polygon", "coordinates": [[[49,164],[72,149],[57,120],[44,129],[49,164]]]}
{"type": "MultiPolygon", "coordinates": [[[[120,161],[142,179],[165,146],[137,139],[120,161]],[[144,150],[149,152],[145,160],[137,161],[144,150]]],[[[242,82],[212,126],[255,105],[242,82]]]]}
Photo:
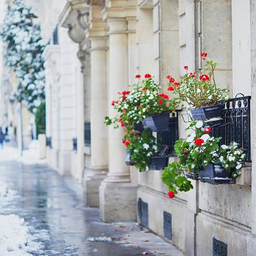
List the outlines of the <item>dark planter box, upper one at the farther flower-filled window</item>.
{"type": "Polygon", "coordinates": [[[163,132],[169,130],[170,111],[160,114],[150,115],[142,120],[142,124],[150,128],[153,132],[163,132]]]}

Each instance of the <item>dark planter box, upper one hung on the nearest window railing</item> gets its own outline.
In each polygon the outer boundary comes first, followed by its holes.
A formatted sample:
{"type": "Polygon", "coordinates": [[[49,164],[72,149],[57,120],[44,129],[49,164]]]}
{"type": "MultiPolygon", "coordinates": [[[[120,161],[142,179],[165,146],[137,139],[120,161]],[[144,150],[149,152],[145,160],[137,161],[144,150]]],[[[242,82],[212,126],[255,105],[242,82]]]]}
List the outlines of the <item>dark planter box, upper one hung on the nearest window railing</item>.
{"type": "Polygon", "coordinates": [[[215,105],[212,107],[191,108],[190,112],[193,119],[208,120],[212,118],[221,118],[224,105],[215,105]]]}

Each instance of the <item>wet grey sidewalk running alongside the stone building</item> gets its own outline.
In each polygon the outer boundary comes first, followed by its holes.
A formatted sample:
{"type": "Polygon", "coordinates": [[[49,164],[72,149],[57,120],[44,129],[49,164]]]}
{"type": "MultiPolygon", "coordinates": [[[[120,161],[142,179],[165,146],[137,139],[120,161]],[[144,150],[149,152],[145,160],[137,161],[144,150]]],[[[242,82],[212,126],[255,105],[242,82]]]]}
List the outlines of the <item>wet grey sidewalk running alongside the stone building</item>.
{"type": "Polygon", "coordinates": [[[0,187],[11,191],[9,197],[0,196],[0,216],[24,218],[37,244],[28,245],[27,255],[183,255],[136,223],[103,223],[98,209],[83,207],[82,188],[73,179],[61,177],[43,162],[29,161],[33,157],[28,152],[26,157],[28,161],[18,158],[17,150],[9,147],[0,151],[0,187]]]}

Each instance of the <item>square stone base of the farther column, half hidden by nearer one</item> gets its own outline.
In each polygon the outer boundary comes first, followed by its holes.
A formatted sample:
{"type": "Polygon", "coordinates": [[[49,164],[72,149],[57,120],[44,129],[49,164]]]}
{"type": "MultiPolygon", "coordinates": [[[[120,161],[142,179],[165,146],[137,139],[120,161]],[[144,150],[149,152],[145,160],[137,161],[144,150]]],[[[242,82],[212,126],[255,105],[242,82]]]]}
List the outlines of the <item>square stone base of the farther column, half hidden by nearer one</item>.
{"type": "Polygon", "coordinates": [[[83,178],[85,207],[99,207],[99,186],[106,178],[106,171],[106,169],[85,169],[83,178]]]}

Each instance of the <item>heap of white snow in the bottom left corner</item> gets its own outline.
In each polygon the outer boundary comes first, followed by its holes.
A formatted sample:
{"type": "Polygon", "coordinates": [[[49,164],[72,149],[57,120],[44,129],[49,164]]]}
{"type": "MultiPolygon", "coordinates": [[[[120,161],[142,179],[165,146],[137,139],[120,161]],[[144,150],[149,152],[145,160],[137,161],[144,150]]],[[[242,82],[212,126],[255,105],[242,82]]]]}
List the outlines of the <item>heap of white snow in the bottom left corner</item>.
{"type": "Polygon", "coordinates": [[[32,237],[23,218],[0,215],[0,256],[30,256],[32,237]]]}

